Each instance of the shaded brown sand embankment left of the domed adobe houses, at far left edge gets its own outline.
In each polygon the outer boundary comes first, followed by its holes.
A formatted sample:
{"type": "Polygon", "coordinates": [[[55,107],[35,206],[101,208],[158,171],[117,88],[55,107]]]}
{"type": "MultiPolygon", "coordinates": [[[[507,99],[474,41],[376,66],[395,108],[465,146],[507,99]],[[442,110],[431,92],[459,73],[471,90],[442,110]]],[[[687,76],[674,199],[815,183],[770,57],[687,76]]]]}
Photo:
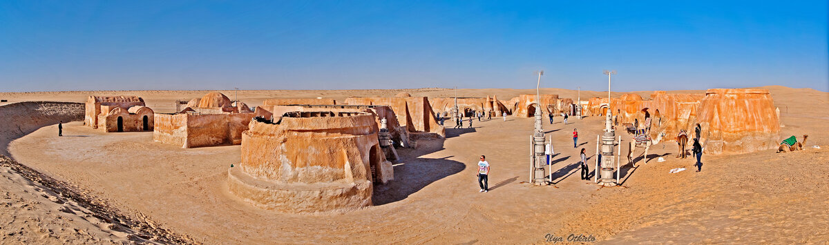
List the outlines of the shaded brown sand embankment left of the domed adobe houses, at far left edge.
{"type": "MultiPolygon", "coordinates": [[[[0,154],[9,156],[8,144],[38,128],[58,122],[82,121],[85,104],[70,102],[19,102],[0,106],[0,154]]],[[[57,132],[55,132],[57,137],[57,132]]]]}

